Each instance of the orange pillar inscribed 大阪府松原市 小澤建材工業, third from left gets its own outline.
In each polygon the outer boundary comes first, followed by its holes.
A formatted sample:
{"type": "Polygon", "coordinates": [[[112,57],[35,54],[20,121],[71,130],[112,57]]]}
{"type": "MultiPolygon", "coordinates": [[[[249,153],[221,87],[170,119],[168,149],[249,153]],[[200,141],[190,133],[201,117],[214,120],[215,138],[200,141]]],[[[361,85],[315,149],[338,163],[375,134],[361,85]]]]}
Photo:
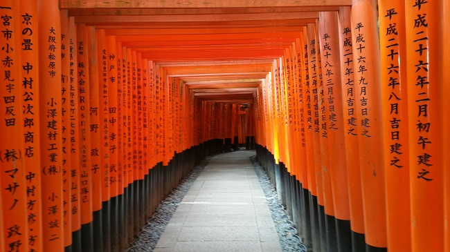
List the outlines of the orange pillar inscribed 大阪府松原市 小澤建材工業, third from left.
{"type": "MultiPolygon", "coordinates": [[[[62,97],[60,10],[42,1],[48,19],[39,19],[39,87],[41,119],[42,211],[44,250],[63,248],[62,97]],[[47,6],[48,5],[48,6],[47,6]]],[[[43,8],[39,8],[42,10],[43,8]]],[[[44,14],[44,13],[42,13],[44,14]]]]}

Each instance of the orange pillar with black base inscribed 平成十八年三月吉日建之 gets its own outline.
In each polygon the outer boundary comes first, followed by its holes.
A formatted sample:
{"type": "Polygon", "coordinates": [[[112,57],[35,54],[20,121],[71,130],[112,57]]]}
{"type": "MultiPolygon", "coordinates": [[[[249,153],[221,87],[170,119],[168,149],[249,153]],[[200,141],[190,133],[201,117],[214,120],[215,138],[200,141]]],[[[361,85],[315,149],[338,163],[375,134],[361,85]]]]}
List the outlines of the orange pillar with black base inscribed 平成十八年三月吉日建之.
{"type": "Polygon", "coordinates": [[[331,186],[333,191],[334,214],[336,217],[337,249],[338,251],[350,251],[350,203],[348,196],[347,162],[345,159],[345,124],[343,121],[341,90],[338,13],[320,12],[319,23],[323,69],[323,96],[325,97],[325,103],[328,109],[328,155],[330,156],[331,186]]]}

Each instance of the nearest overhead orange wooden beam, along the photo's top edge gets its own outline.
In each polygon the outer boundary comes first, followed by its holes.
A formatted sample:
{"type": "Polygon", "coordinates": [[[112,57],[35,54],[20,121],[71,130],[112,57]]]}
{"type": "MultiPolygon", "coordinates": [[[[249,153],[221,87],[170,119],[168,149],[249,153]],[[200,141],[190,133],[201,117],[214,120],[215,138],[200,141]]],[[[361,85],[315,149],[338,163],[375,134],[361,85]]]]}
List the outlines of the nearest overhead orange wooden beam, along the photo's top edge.
{"type": "Polygon", "coordinates": [[[352,0],[60,0],[61,9],[77,8],[251,8],[287,6],[351,6],[352,0]]]}

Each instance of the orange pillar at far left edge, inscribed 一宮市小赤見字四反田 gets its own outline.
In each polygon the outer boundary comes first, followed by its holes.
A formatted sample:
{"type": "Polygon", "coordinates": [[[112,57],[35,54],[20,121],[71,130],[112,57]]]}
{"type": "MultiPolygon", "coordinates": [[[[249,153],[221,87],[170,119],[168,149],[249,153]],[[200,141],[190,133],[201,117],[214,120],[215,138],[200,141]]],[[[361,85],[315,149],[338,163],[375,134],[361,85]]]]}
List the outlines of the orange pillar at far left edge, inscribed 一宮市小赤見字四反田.
{"type": "MultiPolygon", "coordinates": [[[[24,125],[22,130],[23,106],[26,108],[24,100],[23,85],[21,86],[21,72],[19,66],[21,59],[19,22],[22,17],[19,12],[19,3],[15,1],[3,1],[0,3],[0,96],[1,96],[1,121],[0,121],[0,168],[1,168],[1,195],[3,208],[3,234],[5,244],[0,244],[2,251],[28,251],[28,226],[26,207],[28,202],[32,206],[38,199],[29,199],[26,197],[27,185],[31,182],[37,182],[39,175],[28,177],[25,180],[24,162],[33,158],[33,146],[24,148],[24,125]],[[20,140],[18,140],[20,139],[20,140]],[[37,177],[37,179],[35,179],[37,177]]],[[[29,90],[28,90],[29,91],[29,90]]],[[[25,97],[26,98],[26,97],[25,97]]],[[[34,112],[33,110],[32,112],[34,112]]],[[[36,139],[39,141],[39,139],[36,139]]],[[[30,146],[25,143],[25,146],[30,146]]],[[[27,170],[28,171],[28,170],[27,170]]],[[[37,184],[35,184],[37,185],[37,184]]],[[[33,186],[30,187],[33,193],[33,186]]],[[[35,194],[38,196],[37,194],[35,194]]],[[[31,195],[30,195],[31,196],[31,195]]],[[[33,207],[34,211],[38,209],[33,207]]],[[[30,210],[28,209],[28,212],[30,210]]],[[[34,212],[36,213],[36,212],[34,212]]],[[[36,218],[37,216],[33,216],[36,218]]],[[[33,222],[33,221],[32,221],[33,222]]],[[[41,239],[41,238],[39,238],[41,239]]],[[[33,240],[32,240],[33,242],[33,240]]]]}

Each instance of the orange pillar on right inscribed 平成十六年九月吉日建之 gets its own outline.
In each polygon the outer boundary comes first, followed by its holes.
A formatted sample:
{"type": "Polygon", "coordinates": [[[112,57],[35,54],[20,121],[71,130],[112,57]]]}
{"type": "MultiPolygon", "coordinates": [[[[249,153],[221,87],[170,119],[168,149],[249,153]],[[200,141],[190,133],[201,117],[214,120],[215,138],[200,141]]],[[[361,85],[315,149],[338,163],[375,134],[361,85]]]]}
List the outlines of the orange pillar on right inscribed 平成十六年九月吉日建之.
{"type": "Polygon", "coordinates": [[[385,250],[387,235],[376,1],[353,0],[351,23],[366,244],[368,251],[379,251],[385,250]]]}

